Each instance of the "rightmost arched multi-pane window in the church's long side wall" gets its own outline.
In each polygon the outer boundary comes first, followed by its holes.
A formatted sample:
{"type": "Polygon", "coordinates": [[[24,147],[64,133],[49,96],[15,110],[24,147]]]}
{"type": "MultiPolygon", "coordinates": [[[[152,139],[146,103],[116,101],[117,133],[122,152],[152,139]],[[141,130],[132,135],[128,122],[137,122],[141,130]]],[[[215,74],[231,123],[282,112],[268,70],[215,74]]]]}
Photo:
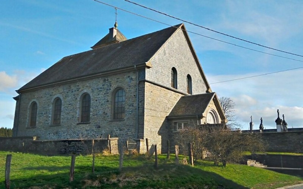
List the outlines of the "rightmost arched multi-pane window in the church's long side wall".
{"type": "Polygon", "coordinates": [[[122,119],[125,117],[125,91],[118,89],[114,98],[114,119],[122,119]]]}

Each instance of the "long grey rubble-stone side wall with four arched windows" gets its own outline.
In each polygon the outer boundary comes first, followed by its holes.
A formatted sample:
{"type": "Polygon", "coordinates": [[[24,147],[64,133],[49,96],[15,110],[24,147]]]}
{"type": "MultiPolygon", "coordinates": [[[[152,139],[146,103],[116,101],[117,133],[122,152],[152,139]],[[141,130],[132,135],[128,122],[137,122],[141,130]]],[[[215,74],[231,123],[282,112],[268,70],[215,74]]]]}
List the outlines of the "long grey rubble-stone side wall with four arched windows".
{"type": "Polygon", "coordinates": [[[21,94],[17,136],[38,136],[40,140],[111,137],[136,138],[136,71],[81,80],[21,94]],[[112,93],[117,87],[125,90],[125,119],[113,120],[112,93]],[[79,123],[79,100],[83,93],[91,96],[90,123],[79,123]],[[52,125],[52,103],[62,100],[61,124],[52,125]],[[29,107],[38,104],[37,123],[29,128],[29,107]]]}

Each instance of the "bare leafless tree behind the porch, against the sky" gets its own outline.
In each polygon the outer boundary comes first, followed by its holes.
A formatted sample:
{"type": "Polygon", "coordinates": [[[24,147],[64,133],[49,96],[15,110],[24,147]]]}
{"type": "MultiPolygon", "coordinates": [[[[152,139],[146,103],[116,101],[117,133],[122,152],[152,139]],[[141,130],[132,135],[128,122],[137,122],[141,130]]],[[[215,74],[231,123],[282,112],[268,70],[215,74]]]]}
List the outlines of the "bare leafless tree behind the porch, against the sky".
{"type": "Polygon", "coordinates": [[[229,128],[239,128],[241,127],[241,124],[237,121],[236,115],[235,115],[235,102],[229,98],[222,96],[219,98],[221,107],[223,109],[223,112],[225,114],[225,117],[228,121],[226,124],[229,128]]]}

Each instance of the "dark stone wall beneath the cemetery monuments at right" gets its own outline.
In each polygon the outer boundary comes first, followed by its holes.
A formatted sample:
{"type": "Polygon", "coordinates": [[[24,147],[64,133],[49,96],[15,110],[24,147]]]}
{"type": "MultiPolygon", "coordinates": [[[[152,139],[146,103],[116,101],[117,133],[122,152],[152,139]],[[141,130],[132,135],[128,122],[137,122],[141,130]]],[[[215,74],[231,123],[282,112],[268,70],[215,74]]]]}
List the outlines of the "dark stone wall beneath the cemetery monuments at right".
{"type": "Polygon", "coordinates": [[[267,152],[303,153],[303,131],[255,133],[267,143],[267,152]]]}

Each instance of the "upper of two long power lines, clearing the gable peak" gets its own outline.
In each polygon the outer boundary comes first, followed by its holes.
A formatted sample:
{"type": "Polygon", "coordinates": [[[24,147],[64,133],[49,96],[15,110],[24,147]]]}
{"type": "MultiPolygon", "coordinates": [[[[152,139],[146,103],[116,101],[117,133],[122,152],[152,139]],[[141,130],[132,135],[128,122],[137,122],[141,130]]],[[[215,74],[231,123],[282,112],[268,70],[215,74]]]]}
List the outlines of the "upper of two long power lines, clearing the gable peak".
{"type": "Polygon", "coordinates": [[[255,45],[258,45],[258,46],[260,46],[260,47],[265,47],[265,48],[272,49],[272,50],[275,50],[275,51],[280,51],[280,52],[283,52],[283,53],[287,53],[287,54],[292,54],[292,55],[295,55],[295,56],[303,57],[302,55],[299,55],[299,54],[294,54],[294,53],[290,53],[290,52],[287,52],[287,51],[281,51],[281,50],[279,50],[279,49],[275,49],[275,48],[272,48],[272,47],[267,47],[267,46],[265,46],[265,45],[261,45],[261,44],[254,43],[254,42],[251,42],[251,41],[247,41],[247,40],[245,40],[245,39],[241,39],[241,38],[238,38],[238,37],[235,37],[235,36],[232,36],[232,35],[228,35],[228,34],[225,34],[225,33],[219,32],[219,31],[215,31],[215,30],[212,30],[212,29],[210,29],[210,28],[206,28],[206,27],[204,27],[204,26],[201,26],[201,25],[198,25],[198,24],[195,24],[195,23],[192,23],[192,22],[183,20],[183,19],[181,19],[181,18],[177,18],[177,17],[171,16],[171,15],[168,15],[168,14],[166,14],[166,13],[164,13],[164,12],[160,12],[160,11],[157,11],[157,10],[155,10],[155,9],[148,8],[148,7],[144,6],[144,5],[140,5],[140,4],[138,4],[138,3],[131,2],[131,1],[129,1],[129,0],[124,0],[124,1],[129,2],[129,3],[132,3],[132,4],[134,4],[134,5],[138,5],[138,6],[140,6],[140,7],[146,8],[146,9],[149,9],[149,10],[151,10],[151,11],[155,11],[155,12],[160,13],[160,14],[162,14],[162,15],[165,15],[165,16],[168,16],[168,17],[171,17],[171,18],[180,20],[180,21],[182,21],[182,22],[186,22],[186,23],[188,23],[188,24],[192,24],[192,25],[194,25],[194,26],[198,26],[198,27],[200,27],[200,28],[204,28],[204,29],[207,29],[207,30],[209,30],[209,31],[216,32],[216,33],[218,33],[218,34],[222,34],[222,35],[225,35],[225,36],[228,36],[228,37],[232,37],[232,38],[234,38],[234,39],[238,39],[238,40],[241,40],[241,41],[245,41],[245,42],[247,42],[247,43],[255,44],[255,45]]]}

